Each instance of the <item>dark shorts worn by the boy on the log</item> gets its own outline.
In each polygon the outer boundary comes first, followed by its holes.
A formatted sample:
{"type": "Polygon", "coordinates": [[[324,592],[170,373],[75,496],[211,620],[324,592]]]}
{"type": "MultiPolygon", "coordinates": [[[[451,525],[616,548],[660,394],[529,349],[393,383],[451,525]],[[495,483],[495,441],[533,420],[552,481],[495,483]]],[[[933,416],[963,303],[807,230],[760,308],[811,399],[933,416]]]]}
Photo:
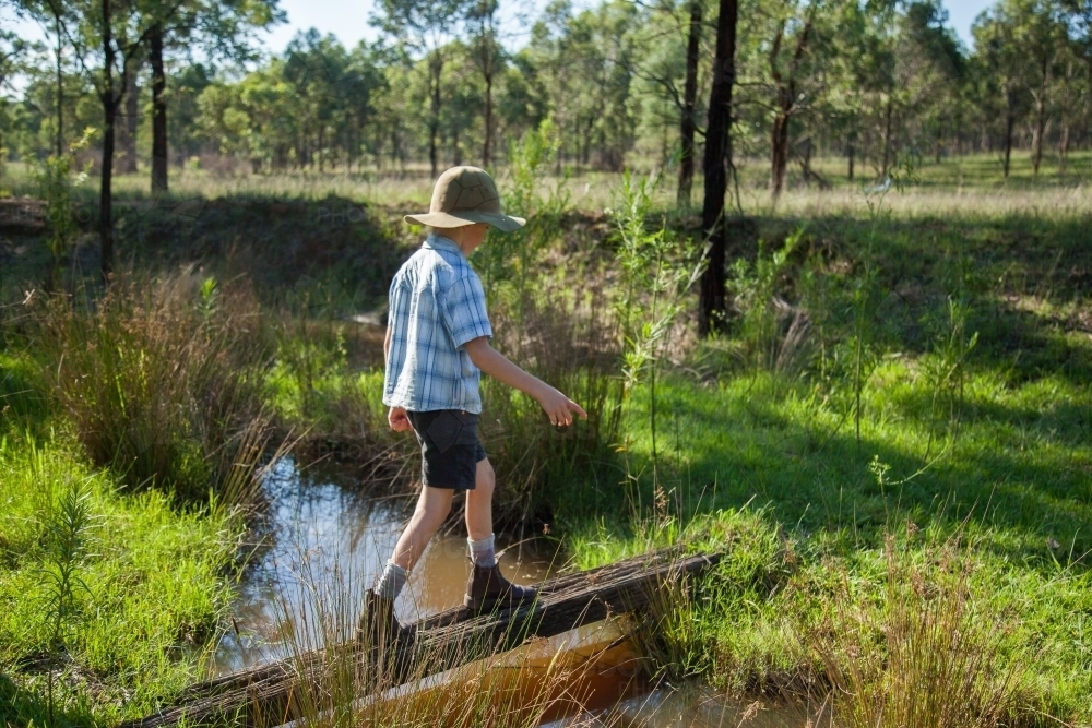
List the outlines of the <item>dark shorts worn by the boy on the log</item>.
{"type": "Polygon", "coordinates": [[[406,413],[420,443],[422,481],[430,488],[474,490],[477,464],[486,458],[477,415],[459,409],[406,413]]]}

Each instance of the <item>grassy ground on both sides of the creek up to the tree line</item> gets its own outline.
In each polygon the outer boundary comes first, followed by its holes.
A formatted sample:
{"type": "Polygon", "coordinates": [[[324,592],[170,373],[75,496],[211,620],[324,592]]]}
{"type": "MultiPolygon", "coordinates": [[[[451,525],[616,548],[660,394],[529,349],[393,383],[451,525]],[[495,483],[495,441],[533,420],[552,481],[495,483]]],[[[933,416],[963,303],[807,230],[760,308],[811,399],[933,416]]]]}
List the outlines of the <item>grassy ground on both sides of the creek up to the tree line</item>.
{"type": "MultiPolygon", "coordinates": [[[[833,189],[792,188],[773,205],[764,167],[748,162],[746,215],[732,223],[735,310],[707,342],[692,335],[692,291],[650,283],[686,268],[680,243],[653,254],[663,220],[688,225],[664,214],[670,186],[644,202],[649,225],[631,230],[632,247],[617,177],[571,178],[551,207],[558,180],[539,175],[531,205],[543,223],[515,247],[490,239],[483,250],[498,252],[475,264],[496,345],[594,417],[559,439],[532,403],[488,385],[507,525],[548,528],[580,566],[667,542],[724,550],[695,593],[670,593],[648,635],[672,678],[833,700],[842,725],[889,725],[876,716],[915,696],[978,713],[902,725],[1092,725],[1090,164],[1075,154],[1068,177],[1047,166],[1033,180],[1017,157],[1005,182],[993,157],[946,159],[905,189],[868,191],[840,181],[842,160],[821,159],[833,189]],[[670,296],[679,315],[655,338],[670,296]],[[651,356],[634,365],[641,342],[651,356]]],[[[14,175],[9,187],[28,190],[14,175]]],[[[186,344],[164,331],[201,332],[210,347],[248,342],[248,381],[262,384],[248,396],[278,432],[306,431],[305,450],[412,457],[382,428],[376,309],[418,239],[397,219],[426,204],[426,177],[188,171],[154,204],[144,182],[119,180],[120,258],[155,272],[147,290],[174,293],[122,312],[185,325],[118,341],[133,353],[186,344]],[[205,333],[239,311],[253,313],[246,336],[205,333]]],[[[93,281],[86,225],[83,236],[71,270],[93,281]]],[[[193,673],[230,594],[242,525],[201,499],[122,487],[130,470],[88,446],[88,426],[61,406],[39,314],[21,308],[48,267],[37,246],[0,242],[0,695],[14,696],[3,717],[52,723],[43,716],[56,675],[67,719],[109,724],[193,673]],[[94,516],[75,571],[88,588],[74,589],[51,634],[35,595],[60,573],[50,524],[73,484],[94,516]],[[157,565],[179,554],[186,570],[157,565]],[[109,636],[134,623],[124,641],[109,636]]],[[[73,315],[102,322],[96,310],[73,315]]],[[[108,358],[118,381],[138,358],[108,358]]],[[[186,407],[211,386],[192,381],[171,395],[186,407]]],[[[198,433],[210,420],[198,415],[170,432],[191,443],[183,455],[209,458],[198,433]]],[[[377,487],[407,486],[371,472],[377,487]]]]}

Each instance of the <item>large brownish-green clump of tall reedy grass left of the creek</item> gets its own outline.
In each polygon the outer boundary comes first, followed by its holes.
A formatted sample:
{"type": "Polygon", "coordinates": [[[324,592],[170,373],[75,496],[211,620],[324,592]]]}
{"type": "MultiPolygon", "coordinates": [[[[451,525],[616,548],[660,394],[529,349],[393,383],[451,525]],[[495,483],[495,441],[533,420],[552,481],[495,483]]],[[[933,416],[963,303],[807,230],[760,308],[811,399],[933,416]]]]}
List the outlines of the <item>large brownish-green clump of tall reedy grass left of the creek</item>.
{"type": "Polygon", "coordinates": [[[99,300],[49,300],[37,323],[50,395],[94,463],[180,502],[253,494],[271,347],[245,286],[123,275],[99,300]]]}

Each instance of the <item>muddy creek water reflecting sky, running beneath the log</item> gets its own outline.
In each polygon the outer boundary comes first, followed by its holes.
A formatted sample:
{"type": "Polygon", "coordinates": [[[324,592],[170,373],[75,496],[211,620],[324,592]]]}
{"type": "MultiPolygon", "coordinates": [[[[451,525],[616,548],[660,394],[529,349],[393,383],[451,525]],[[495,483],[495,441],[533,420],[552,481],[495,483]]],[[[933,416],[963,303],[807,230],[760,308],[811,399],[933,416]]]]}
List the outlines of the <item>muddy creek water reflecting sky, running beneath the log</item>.
{"type": "MultiPolygon", "coordinates": [[[[282,458],[263,484],[269,509],[263,546],[246,568],[221,637],[210,677],[280,659],[293,649],[313,649],[347,637],[365,589],[375,582],[410,515],[411,497],[361,494],[354,475],[333,466],[297,467],[282,458]]],[[[501,569],[520,584],[535,584],[562,564],[542,544],[498,544],[501,569]]],[[[450,609],[462,601],[470,570],[465,538],[441,535],[429,544],[395,604],[403,622],[450,609]]],[[[550,728],[573,725],[626,726],[799,726],[806,718],[783,706],[748,715],[735,702],[696,688],[675,690],[644,682],[641,658],[624,635],[621,621],[600,622],[536,641],[498,656],[490,666],[512,668],[529,690],[541,684],[559,659],[592,669],[563,685],[548,712],[550,728]]],[[[473,669],[473,668],[471,668],[473,669]]],[[[446,689],[436,676],[431,688],[446,689]]],[[[755,709],[751,708],[751,713],[755,709]]]]}

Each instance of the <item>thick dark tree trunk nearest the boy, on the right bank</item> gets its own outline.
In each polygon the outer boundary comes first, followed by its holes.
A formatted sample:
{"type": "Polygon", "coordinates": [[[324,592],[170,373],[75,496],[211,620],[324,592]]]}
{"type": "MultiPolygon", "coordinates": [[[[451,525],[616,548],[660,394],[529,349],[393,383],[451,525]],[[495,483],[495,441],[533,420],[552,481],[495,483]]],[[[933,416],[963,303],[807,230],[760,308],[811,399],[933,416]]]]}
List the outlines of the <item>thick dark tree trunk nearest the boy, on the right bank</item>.
{"type": "Polygon", "coordinates": [[[727,247],[724,226],[724,194],[728,188],[732,158],[732,86],[736,79],[736,23],[738,0],[720,0],[716,22],[716,56],[713,84],[709,94],[705,126],[705,199],[701,208],[701,229],[708,243],[705,272],[701,275],[698,297],[698,335],[719,330],[727,314],[724,295],[724,262],[727,247]]]}

